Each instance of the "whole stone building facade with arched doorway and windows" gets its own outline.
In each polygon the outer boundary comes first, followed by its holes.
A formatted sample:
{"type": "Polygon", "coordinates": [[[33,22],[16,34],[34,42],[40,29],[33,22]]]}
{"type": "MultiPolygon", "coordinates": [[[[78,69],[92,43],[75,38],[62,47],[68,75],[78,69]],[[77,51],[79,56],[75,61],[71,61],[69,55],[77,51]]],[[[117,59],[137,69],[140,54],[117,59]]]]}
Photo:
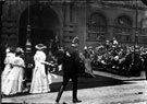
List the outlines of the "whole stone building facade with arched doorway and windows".
{"type": "Polygon", "coordinates": [[[109,0],[5,0],[2,4],[3,44],[32,48],[38,43],[59,41],[66,46],[74,36],[79,46],[97,46],[117,37],[120,43],[147,45],[142,1],[109,0]],[[137,32],[136,32],[137,30],[137,32]],[[29,36],[28,36],[29,31],[29,36]]]}

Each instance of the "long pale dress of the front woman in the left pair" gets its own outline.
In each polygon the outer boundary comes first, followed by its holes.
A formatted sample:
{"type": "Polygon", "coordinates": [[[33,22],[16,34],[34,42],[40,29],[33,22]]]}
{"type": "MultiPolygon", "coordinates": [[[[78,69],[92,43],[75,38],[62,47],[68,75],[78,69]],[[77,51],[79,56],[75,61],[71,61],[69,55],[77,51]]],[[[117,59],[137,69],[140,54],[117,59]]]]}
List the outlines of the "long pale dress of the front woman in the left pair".
{"type": "Polygon", "coordinates": [[[11,95],[23,91],[24,67],[24,60],[19,56],[15,57],[13,60],[13,68],[2,86],[3,94],[11,95]]]}

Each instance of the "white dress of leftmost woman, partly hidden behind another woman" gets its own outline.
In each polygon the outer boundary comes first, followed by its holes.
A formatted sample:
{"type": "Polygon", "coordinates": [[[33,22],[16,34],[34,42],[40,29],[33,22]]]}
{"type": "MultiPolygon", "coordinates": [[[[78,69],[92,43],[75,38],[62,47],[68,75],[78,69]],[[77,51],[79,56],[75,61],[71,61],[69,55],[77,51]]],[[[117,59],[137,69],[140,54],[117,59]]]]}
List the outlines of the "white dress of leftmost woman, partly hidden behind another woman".
{"type": "Polygon", "coordinates": [[[9,76],[10,71],[12,70],[12,63],[13,63],[13,60],[15,58],[15,54],[13,53],[8,53],[7,54],[7,57],[4,59],[4,70],[2,71],[2,74],[1,74],[1,84],[3,86],[3,83],[7,79],[7,77],[9,76]]]}

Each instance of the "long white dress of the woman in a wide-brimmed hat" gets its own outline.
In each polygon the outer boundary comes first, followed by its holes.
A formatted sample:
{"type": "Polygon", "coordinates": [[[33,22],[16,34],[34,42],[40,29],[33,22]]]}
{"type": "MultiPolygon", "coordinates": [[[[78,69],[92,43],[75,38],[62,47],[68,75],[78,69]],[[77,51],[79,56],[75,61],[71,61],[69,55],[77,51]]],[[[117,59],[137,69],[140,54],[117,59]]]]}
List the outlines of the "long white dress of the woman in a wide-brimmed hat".
{"type": "Polygon", "coordinates": [[[35,68],[33,70],[33,79],[29,93],[47,93],[50,91],[48,77],[45,71],[46,54],[37,50],[34,56],[35,68]]]}

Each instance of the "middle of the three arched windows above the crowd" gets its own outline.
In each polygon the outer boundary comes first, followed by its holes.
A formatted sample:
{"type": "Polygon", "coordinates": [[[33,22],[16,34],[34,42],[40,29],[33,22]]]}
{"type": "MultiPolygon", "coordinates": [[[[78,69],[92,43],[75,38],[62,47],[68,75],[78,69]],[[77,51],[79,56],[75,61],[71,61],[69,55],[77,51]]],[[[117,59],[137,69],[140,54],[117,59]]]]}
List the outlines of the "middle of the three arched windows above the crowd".
{"type": "Polygon", "coordinates": [[[131,42],[132,34],[132,21],[128,16],[122,15],[118,18],[115,27],[114,27],[114,36],[119,42],[131,42]]]}

